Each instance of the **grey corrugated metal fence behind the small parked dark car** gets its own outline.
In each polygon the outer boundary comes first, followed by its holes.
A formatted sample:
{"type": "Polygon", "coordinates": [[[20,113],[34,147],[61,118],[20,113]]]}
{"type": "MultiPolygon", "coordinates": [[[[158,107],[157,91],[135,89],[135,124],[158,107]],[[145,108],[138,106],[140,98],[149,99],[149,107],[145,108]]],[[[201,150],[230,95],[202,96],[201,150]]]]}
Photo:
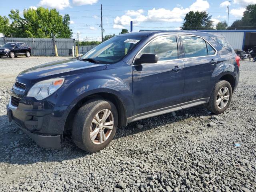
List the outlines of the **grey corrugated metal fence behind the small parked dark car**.
{"type": "Polygon", "coordinates": [[[72,56],[72,48],[75,46],[74,39],[50,39],[50,38],[0,38],[0,44],[7,42],[24,42],[31,47],[34,56],[54,56],[55,49],[59,56],[72,56]]]}

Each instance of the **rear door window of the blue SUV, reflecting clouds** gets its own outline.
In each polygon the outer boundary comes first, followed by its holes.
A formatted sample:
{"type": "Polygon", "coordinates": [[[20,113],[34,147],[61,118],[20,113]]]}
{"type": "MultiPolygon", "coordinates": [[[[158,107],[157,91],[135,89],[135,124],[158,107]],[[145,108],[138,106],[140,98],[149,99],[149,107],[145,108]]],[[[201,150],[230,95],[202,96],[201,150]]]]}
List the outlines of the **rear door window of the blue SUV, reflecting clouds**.
{"type": "Polygon", "coordinates": [[[208,56],[206,42],[200,37],[181,36],[185,58],[208,56]]]}

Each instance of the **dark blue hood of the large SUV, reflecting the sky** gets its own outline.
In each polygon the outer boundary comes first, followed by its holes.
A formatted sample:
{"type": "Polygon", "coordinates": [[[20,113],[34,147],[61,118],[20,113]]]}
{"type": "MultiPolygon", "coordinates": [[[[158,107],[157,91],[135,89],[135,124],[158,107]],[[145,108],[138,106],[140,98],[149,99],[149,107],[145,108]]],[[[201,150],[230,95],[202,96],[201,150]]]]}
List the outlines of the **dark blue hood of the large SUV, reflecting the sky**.
{"type": "Polygon", "coordinates": [[[26,82],[28,80],[49,79],[67,75],[103,70],[106,64],[94,64],[86,61],[72,59],[59,60],[42,64],[22,71],[16,80],[26,82]]]}

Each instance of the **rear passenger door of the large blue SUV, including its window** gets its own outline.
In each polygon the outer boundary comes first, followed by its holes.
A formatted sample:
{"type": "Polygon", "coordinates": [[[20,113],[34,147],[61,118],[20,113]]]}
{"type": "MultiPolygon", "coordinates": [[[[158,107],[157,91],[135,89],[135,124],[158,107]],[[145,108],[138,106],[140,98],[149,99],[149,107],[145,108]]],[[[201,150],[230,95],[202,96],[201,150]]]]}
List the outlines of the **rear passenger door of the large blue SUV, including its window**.
{"type": "Polygon", "coordinates": [[[199,36],[182,35],[182,52],[184,58],[184,94],[183,108],[190,102],[204,103],[210,97],[214,83],[212,76],[220,63],[217,50],[199,36]],[[195,101],[196,100],[196,101],[195,101]]]}

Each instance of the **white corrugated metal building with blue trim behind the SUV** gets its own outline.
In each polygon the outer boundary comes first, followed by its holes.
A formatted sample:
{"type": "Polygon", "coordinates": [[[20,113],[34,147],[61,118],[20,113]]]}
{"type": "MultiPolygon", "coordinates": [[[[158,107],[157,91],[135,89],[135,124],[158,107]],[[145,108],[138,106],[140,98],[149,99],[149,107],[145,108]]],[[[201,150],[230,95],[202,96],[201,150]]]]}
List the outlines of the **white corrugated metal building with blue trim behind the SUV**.
{"type": "Polygon", "coordinates": [[[222,34],[234,49],[248,50],[256,46],[256,30],[198,30],[222,34]]]}

